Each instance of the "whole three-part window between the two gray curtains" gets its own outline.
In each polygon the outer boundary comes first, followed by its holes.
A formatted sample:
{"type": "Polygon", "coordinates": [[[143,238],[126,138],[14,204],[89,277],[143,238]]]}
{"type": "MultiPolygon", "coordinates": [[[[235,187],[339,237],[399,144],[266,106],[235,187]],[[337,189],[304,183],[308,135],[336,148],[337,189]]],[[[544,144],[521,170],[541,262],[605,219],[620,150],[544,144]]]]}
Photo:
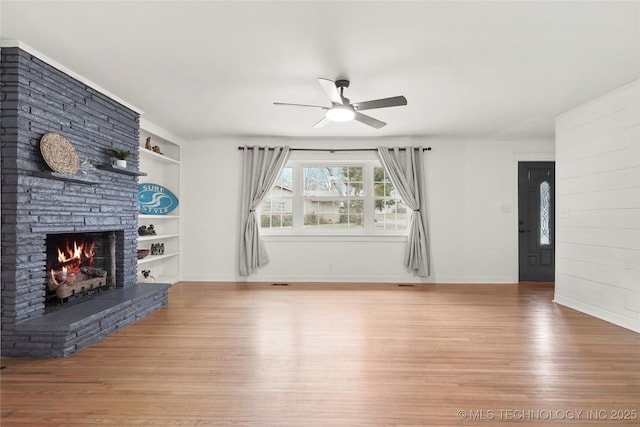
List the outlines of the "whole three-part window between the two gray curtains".
{"type": "Polygon", "coordinates": [[[261,207],[270,234],[404,234],[407,207],[377,160],[289,160],[261,207]]]}

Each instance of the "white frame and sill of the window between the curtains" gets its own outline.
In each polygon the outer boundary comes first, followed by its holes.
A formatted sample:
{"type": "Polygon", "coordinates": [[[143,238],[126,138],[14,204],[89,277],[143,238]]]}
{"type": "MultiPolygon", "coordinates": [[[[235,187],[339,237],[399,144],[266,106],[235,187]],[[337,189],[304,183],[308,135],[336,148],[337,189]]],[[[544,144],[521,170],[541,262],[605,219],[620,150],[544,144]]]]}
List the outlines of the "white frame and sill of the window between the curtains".
{"type": "MultiPolygon", "coordinates": [[[[291,229],[282,228],[260,228],[260,235],[265,241],[296,241],[306,239],[309,241],[378,241],[380,239],[388,239],[393,241],[406,241],[408,236],[408,224],[404,230],[384,230],[376,229],[374,224],[374,207],[375,195],[373,185],[373,171],[375,167],[382,167],[375,152],[367,153],[369,156],[364,157],[362,153],[358,153],[357,157],[354,153],[310,153],[295,152],[292,153],[289,160],[285,164],[286,167],[293,168],[293,227],[291,229]],[[304,228],[303,218],[303,168],[305,167],[344,167],[344,166],[361,166],[363,167],[363,222],[364,227],[361,229],[332,229],[332,228],[304,228]]],[[[262,214],[262,206],[257,209],[257,214],[262,214]]],[[[407,217],[409,212],[407,212],[407,217]]],[[[260,223],[260,221],[259,221],[260,223]]]]}

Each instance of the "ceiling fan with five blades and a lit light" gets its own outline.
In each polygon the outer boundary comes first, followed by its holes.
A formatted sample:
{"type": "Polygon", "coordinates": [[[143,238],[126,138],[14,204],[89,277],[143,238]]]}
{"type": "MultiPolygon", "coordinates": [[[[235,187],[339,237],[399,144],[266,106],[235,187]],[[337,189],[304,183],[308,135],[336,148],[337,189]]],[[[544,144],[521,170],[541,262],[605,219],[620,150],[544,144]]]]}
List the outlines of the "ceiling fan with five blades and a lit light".
{"type": "Polygon", "coordinates": [[[404,96],[393,96],[391,98],[352,103],[349,98],[345,98],[344,96],[344,89],[349,87],[349,80],[336,80],[334,82],[333,80],[320,78],[318,79],[318,82],[320,83],[322,90],[324,90],[324,93],[326,93],[331,100],[331,107],[325,107],[323,105],[291,104],[288,102],[274,102],[274,104],[321,108],[326,110],[325,116],[313,125],[314,128],[322,127],[330,121],[348,122],[351,120],[357,120],[376,129],[384,127],[386,123],[381,120],[374,119],[371,116],[362,114],[360,111],[407,105],[407,98],[404,96]]]}

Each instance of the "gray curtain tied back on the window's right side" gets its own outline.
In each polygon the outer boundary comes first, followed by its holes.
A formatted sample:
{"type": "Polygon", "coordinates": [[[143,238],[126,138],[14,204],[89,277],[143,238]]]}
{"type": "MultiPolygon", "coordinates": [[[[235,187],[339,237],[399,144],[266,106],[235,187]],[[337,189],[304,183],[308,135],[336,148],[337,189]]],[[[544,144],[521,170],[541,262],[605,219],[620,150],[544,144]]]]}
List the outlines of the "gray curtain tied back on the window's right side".
{"type": "Polygon", "coordinates": [[[378,157],[400,197],[413,210],[404,264],[418,276],[429,276],[429,236],[422,148],[378,147],[378,157]]]}

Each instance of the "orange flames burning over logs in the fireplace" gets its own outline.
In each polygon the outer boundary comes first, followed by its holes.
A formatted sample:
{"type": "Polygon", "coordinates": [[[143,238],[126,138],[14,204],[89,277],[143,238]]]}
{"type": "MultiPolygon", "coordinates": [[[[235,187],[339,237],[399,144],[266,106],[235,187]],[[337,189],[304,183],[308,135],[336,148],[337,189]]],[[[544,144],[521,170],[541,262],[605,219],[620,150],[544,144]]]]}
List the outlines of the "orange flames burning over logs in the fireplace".
{"type": "Polygon", "coordinates": [[[49,271],[50,287],[57,288],[65,283],[72,283],[82,280],[80,267],[93,267],[93,256],[95,255],[95,243],[91,242],[68,242],[66,247],[57,248],[58,264],[49,271]]]}

